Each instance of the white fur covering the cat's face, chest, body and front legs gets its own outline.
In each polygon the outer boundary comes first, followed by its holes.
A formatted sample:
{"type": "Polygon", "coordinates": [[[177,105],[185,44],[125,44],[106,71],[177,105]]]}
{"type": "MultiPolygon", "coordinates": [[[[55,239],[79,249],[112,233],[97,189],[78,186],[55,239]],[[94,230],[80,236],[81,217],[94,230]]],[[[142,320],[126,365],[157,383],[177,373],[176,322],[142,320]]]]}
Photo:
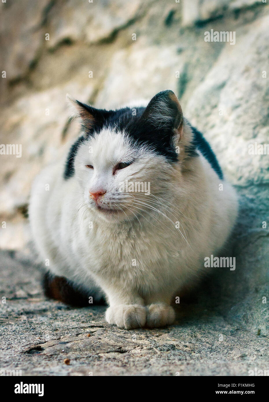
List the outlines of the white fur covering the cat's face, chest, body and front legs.
{"type": "Polygon", "coordinates": [[[41,258],[56,275],[89,288],[94,279],[107,295],[111,324],[127,329],[171,324],[172,296],[197,280],[205,256],[216,254],[232,230],[235,191],[202,155],[185,157],[191,135],[184,121],[179,162],[172,166],[146,148],[133,148],[124,133],[105,129],[79,148],[73,177],[63,179],[62,160],[35,180],[29,213],[41,258]],[[130,159],[130,166],[113,175],[117,163],[130,159]],[[125,179],[150,182],[151,194],[120,193],[125,179]],[[107,191],[104,206],[124,212],[97,210],[89,190],[99,189],[107,191]]]}

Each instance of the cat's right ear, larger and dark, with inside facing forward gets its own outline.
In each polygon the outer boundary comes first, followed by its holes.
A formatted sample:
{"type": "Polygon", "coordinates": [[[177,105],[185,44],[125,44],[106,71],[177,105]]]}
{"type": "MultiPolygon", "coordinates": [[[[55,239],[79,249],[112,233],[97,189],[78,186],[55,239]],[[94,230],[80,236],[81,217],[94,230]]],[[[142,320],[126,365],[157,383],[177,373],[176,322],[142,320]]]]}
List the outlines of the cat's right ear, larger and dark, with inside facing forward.
{"type": "Polygon", "coordinates": [[[177,96],[171,90],[156,94],[146,107],[142,118],[156,127],[170,128],[179,135],[183,129],[183,113],[177,96]]]}

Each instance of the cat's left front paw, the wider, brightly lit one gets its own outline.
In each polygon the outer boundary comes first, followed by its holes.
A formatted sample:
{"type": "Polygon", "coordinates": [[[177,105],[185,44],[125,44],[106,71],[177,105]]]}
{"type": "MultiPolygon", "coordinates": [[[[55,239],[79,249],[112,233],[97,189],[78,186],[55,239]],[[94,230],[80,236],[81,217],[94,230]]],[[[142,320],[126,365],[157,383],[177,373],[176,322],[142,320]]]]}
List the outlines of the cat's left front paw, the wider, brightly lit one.
{"type": "Polygon", "coordinates": [[[116,324],[120,328],[142,328],[146,325],[147,311],[139,304],[120,304],[109,307],[105,318],[109,324],[116,324]]]}

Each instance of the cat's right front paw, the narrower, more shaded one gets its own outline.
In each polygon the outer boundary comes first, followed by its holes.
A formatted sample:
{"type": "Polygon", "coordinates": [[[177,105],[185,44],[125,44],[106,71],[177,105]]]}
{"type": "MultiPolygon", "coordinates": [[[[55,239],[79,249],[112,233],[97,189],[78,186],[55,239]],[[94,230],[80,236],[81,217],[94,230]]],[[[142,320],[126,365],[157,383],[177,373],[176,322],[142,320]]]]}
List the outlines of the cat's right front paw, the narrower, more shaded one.
{"type": "Polygon", "coordinates": [[[148,306],[147,326],[158,328],[170,325],[175,321],[175,311],[164,303],[153,303],[148,306]]]}

